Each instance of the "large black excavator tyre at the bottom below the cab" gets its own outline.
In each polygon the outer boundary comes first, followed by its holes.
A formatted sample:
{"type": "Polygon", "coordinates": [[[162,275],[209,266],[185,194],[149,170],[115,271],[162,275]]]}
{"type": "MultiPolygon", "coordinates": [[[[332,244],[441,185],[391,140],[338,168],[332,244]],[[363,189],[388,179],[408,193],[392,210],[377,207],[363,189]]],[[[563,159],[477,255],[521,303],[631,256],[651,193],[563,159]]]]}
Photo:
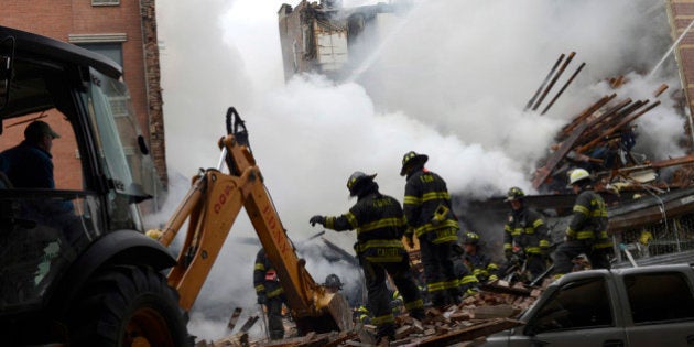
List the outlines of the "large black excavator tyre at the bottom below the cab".
{"type": "Polygon", "coordinates": [[[191,345],[178,293],[150,267],[107,268],[77,301],[71,346],[191,345]]]}

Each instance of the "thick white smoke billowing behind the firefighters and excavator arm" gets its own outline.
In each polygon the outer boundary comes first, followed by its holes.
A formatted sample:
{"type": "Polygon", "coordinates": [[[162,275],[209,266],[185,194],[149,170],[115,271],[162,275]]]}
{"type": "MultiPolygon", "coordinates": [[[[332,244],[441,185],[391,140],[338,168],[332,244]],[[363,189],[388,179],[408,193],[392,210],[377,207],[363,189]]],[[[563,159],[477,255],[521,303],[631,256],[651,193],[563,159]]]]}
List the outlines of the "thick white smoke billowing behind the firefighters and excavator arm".
{"type": "MultiPolygon", "coordinates": [[[[651,98],[663,82],[680,89],[672,62],[653,80],[633,73],[650,72],[671,42],[661,2],[416,1],[354,82],[307,75],[286,85],[276,22],[282,2],[160,0],[158,20],[170,170],[189,176],[214,166],[223,116],[236,106],[296,243],[321,230],[308,225],[312,215],[339,215],[354,204],[345,183],[356,170],[378,173],[381,191],[402,200],[400,160],[414,150],[430,155],[427,167],[453,193],[531,191],[529,174],[556,131],[611,94],[604,78],[628,74],[619,98],[651,98]],[[557,56],[572,51],[564,78],[586,62],[578,78],[545,116],[523,112],[557,56]]],[[[682,138],[683,120],[666,95],[639,120],[639,145],[657,159],[683,152],[673,141],[682,138]]],[[[242,241],[253,231],[241,215],[192,313],[189,328],[200,338],[227,335],[235,306],[257,310],[251,273],[259,246],[242,241]]],[[[354,232],[325,237],[351,251],[354,232]]],[[[332,272],[348,285],[358,281],[354,269],[314,258],[307,268],[317,282],[332,272]]]]}

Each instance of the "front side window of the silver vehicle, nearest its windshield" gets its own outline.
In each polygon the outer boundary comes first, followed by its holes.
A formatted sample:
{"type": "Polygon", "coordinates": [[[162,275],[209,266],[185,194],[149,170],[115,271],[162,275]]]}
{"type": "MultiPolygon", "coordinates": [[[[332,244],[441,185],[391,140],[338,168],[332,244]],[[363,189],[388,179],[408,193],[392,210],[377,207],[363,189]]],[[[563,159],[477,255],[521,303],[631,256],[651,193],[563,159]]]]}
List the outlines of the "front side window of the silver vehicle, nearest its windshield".
{"type": "Polygon", "coordinates": [[[604,278],[566,283],[530,322],[532,334],[612,326],[610,299],[604,278]]]}

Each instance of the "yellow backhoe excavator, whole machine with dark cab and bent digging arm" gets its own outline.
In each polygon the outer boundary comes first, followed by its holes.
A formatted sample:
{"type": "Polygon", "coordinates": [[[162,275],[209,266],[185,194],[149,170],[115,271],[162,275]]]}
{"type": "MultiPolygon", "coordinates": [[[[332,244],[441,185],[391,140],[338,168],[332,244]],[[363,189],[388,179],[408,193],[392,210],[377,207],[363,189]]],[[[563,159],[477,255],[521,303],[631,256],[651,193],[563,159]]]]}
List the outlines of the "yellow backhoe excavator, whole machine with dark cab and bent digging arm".
{"type": "Polygon", "coordinates": [[[161,186],[132,110],[113,61],[0,26],[0,345],[192,346],[187,312],[241,208],[299,330],[349,329],[345,300],[297,258],[234,109],[218,167],[193,178],[159,240],[145,236],[141,209],[152,209],[161,186]],[[232,120],[242,130],[231,131],[232,120]],[[59,133],[42,134],[54,140],[55,185],[28,183],[41,151],[14,149],[36,121],[59,133]],[[175,258],[169,245],[186,220],[175,258]]]}

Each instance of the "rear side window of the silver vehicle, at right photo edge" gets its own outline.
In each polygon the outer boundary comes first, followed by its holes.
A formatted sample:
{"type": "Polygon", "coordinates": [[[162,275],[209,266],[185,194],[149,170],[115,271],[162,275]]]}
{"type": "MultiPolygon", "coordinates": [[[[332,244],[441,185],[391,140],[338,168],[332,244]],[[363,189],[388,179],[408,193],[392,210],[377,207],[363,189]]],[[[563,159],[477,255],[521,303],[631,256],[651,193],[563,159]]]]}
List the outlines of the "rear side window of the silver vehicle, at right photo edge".
{"type": "Polygon", "coordinates": [[[681,272],[625,276],[635,324],[694,319],[692,289],[681,272]]]}

